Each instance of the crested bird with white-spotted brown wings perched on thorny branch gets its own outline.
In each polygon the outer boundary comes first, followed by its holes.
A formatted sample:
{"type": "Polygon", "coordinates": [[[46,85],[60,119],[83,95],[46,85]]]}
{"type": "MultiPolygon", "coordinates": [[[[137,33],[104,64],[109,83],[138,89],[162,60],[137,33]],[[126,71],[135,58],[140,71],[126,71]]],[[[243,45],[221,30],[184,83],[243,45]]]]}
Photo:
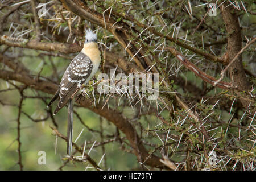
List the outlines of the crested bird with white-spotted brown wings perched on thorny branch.
{"type": "Polygon", "coordinates": [[[68,155],[72,151],[72,133],[73,133],[73,97],[82,84],[87,84],[90,78],[98,70],[101,62],[100,51],[98,50],[97,35],[91,30],[86,30],[85,43],[82,51],[74,57],[66,69],[57,92],[49,102],[49,107],[54,101],[59,100],[53,115],[68,103],[68,155]]]}

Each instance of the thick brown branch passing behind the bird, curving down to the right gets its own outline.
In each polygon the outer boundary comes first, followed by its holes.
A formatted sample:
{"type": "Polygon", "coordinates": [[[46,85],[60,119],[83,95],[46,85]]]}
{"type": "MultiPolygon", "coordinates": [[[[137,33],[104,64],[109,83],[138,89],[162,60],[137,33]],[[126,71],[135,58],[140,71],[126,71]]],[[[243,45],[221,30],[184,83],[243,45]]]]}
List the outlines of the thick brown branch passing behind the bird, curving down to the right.
{"type": "MultiPolygon", "coordinates": [[[[58,88],[58,85],[53,84],[50,81],[36,79],[33,78],[31,75],[14,73],[11,71],[0,71],[0,78],[2,78],[3,80],[19,81],[29,86],[30,88],[40,90],[49,94],[54,94],[58,88]]],[[[131,125],[129,120],[123,117],[121,113],[118,113],[118,111],[116,110],[103,107],[102,103],[93,107],[92,101],[86,98],[80,103],[78,102],[78,104],[82,107],[92,110],[94,113],[97,113],[102,117],[106,118],[108,121],[112,122],[115,126],[118,127],[119,130],[121,130],[126,135],[131,146],[133,147],[133,151],[134,154],[137,156],[137,159],[142,162],[147,159],[148,155],[150,154],[148,154],[148,151],[143,146],[141,138],[138,137],[137,131],[134,129],[133,125],[131,125]]],[[[160,162],[160,159],[161,158],[159,158],[158,156],[151,155],[151,157],[148,158],[144,164],[147,164],[151,167],[164,168],[164,165],[160,162]]]]}

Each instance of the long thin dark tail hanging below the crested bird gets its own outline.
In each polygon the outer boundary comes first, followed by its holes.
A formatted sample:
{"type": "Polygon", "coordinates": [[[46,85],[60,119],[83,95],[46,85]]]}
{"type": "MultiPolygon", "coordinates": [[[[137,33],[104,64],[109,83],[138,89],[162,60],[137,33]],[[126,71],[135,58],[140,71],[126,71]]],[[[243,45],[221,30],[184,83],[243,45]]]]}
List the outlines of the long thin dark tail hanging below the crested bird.
{"type": "Polygon", "coordinates": [[[68,101],[68,155],[72,152],[72,135],[73,135],[73,100],[68,101]]]}

